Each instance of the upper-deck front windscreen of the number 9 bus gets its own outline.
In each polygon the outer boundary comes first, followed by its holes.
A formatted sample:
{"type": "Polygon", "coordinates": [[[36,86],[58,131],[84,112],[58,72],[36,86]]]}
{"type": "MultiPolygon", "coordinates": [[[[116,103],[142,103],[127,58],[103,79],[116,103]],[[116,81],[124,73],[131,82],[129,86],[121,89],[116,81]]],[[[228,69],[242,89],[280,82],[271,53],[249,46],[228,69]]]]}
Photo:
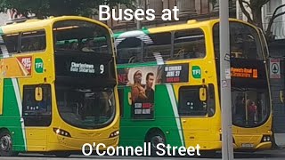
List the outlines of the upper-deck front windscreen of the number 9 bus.
{"type": "Polygon", "coordinates": [[[55,51],[112,53],[110,32],[84,20],[61,20],[53,24],[55,51]]]}

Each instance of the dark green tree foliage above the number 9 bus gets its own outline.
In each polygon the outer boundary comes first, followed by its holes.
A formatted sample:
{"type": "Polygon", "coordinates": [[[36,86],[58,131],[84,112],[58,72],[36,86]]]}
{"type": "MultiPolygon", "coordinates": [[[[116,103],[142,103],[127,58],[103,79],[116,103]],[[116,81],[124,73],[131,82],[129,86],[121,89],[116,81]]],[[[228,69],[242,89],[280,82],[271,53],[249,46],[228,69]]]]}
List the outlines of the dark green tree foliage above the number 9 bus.
{"type": "Polygon", "coordinates": [[[134,0],[0,0],[0,12],[13,9],[25,17],[28,17],[29,13],[34,13],[39,19],[60,15],[89,17],[100,4],[114,6],[131,4],[132,1],[134,0]]]}

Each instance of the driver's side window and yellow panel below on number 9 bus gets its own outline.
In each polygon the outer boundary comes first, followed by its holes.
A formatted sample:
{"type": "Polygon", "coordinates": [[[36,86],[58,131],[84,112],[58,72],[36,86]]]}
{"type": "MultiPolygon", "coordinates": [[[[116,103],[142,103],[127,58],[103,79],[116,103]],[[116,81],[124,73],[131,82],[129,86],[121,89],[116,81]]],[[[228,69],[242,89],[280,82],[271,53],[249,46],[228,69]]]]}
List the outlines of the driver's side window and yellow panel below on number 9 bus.
{"type": "Polygon", "coordinates": [[[22,116],[28,151],[45,151],[47,128],[52,122],[51,85],[24,85],[22,116]]]}

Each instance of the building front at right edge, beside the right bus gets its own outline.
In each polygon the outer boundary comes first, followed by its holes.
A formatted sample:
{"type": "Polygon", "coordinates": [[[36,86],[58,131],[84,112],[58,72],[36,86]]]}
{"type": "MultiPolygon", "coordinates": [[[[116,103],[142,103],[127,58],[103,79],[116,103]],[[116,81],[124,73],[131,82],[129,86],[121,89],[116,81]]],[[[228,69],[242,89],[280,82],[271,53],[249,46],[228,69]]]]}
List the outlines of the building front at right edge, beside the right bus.
{"type": "MultiPolygon", "coordinates": [[[[285,0],[271,0],[263,8],[264,28],[267,29],[269,20],[273,17],[273,12],[285,0]]],[[[280,8],[277,13],[285,12],[285,7],[280,8]]],[[[273,41],[269,43],[270,58],[280,60],[280,78],[271,78],[273,95],[273,131],[276,143],[285,146],[285,104],[281,100],[281,93],[285,89],[284,70],[285,70],[285,16],[276,18],[270,28],[273,34],[273,41]]],[[[273,72],[273,70],[270,70],[273,72]]]]}

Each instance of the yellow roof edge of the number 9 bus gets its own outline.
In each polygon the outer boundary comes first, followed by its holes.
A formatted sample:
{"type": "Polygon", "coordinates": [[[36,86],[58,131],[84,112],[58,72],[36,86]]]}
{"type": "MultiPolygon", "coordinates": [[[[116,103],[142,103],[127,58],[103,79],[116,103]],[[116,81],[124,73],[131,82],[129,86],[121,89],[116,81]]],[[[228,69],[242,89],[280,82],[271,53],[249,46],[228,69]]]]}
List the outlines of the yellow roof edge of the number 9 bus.
{"type": "Polygon", "coordinates": [[[9,25],[1,26],[0,29],[2,30],[2,32],[4,32],[4,34],[11,34],[20,31],[29,31],[39,28],[52,27],[55,21],[60,21],[60,20],[86,20],[101,25],[104,28],[108,28],[107,25],[97,20],[92,20],[80,16],[61,16],[61,17],[50,17],[45,20],[26,20],[25,22],[12,23],[9,25]]]}

